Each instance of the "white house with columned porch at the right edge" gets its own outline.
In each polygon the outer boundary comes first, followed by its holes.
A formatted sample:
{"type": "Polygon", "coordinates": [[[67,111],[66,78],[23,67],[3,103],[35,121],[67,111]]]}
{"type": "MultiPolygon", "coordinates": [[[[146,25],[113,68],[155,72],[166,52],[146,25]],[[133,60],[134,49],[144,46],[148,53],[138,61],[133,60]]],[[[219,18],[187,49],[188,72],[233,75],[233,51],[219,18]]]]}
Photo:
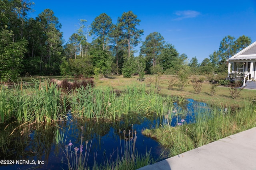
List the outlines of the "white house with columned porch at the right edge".
{"type": "Polygon", "coordinates": [[[246,80],[256,80],[256,42],[252,43],[228,60],[228,77],[239,77],[246,80]]]}

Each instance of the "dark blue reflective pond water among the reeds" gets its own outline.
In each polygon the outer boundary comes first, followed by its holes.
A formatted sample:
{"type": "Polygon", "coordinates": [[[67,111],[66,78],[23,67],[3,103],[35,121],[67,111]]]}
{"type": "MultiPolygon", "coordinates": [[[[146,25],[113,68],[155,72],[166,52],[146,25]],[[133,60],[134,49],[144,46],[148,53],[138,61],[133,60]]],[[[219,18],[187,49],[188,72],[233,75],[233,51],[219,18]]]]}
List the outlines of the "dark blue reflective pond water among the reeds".
{"type": "MultiPolygon", "coordinates": [[[[192,99],[189,99],[183,105],[176,103],[172,112],[179,113],[182,111],[183,114],[173,116],[170,122],[171,125],[176,126],[181,119],[184,119],[187,123],[194,122],[195,109],[196,111],[205,111],[209,107],[192,99]]],[[[158,159],[163,148],[153,139],[142,135],[142,131],[162,125],[163,122],[166,122],[164,119],[164,116],[142,117],[133,115],[123,117],[122,121],[109,123],[104,122],[104,120],[101,122],[95,120],[81,121],[73,119],[69,115],[66,121],[56,126],[41,125],[29,129],[17,128],[12,135],[10,135],[10,131],[14,129],[15,125],[13,127],[10,125],[5,130],[4,127],[6,126],[4,126],[0,128],[0,160],[12,160],[14,162],[7,164],[6,161],[6,164],[0,164],[0,169],[67,169],[65,147],[71,141],[72,146],[68,146],[68,149],[80,148],[81,136],[83,136],[82,145],[84,145],[82,154],[86,152],[86,141],[88,141],[88,148],[90,147],[88,160],[86,160],[88,166],[93,166],[95,159],[98,164],[104,163],[106,160],[115,160],[117,154],[120,155],[124,150],[124,130],[126,131],[126,137],[128,137],[129,130],[131,130],[130,137],[134,137],[132,135],[136,130],[136,149],[139,154],[145,154],[146,151],[151,150],[152,157],[158,159]],[[81,127],[83,127],[83,130],[81,127]]]]}

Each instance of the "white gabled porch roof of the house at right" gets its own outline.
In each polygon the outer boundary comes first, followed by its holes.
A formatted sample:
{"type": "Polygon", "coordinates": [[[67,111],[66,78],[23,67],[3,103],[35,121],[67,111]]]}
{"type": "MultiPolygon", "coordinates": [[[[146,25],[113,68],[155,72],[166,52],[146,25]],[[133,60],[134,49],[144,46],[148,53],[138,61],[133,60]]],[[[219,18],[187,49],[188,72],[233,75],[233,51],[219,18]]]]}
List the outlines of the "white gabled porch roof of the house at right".
{"type": "Polygon", "coordinates": [[[228,61],[236,60],[256,60],[256,41],[228,59],[228,61]]]}

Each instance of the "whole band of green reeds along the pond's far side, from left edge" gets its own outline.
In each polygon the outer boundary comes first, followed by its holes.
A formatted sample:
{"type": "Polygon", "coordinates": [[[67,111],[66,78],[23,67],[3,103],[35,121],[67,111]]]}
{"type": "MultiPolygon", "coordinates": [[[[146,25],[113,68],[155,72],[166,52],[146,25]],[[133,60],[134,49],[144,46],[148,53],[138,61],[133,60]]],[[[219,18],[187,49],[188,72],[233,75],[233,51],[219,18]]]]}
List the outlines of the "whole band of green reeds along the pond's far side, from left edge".
{"type": "Polygon", "coordinates": [[[166,103],[172,101],[170,96],[147,90],[145,85],[126,86],[119,94],[110,86],[94,87],[93,80],[74,82],[72,90],[68,80],[59,86],[46,79],[21,81],[12,89],[1,85],[0,122],[52,123],[62,121],[68,109],[76,117],[112,122],[129,114],[163,115],[173,107],[172,102],[166,103]]]}

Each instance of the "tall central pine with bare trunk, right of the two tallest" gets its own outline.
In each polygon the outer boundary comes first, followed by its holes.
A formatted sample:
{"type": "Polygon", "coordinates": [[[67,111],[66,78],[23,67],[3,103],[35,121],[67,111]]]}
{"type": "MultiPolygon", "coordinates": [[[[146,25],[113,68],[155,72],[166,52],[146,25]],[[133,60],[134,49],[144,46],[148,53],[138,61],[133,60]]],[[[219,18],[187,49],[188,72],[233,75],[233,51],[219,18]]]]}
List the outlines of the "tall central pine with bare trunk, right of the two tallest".
{"type": "Polygon", "coordinates": [[[140,36],[143,35],[143,29],[137,29],[136,26],[140,25],[140,20],[132,11],[124,12],[118,18],[118,29],[122,31],[122,39],[127,41],[128,57],[132,47],[136,47],[140,41],[140,36]]]}

